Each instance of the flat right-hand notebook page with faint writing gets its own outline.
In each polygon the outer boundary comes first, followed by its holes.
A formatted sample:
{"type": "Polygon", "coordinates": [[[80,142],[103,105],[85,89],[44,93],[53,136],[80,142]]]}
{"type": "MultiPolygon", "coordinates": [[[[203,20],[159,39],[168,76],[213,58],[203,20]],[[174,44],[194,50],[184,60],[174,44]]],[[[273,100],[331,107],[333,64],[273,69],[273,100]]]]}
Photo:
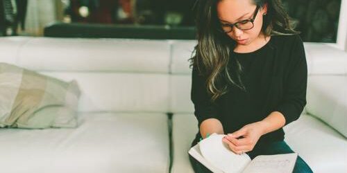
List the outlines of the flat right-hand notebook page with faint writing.
{"type": "Polygon", "coordinates": [[[243,173],[291,173],[297,157],[297,153],[256,156],[243,173]]]}

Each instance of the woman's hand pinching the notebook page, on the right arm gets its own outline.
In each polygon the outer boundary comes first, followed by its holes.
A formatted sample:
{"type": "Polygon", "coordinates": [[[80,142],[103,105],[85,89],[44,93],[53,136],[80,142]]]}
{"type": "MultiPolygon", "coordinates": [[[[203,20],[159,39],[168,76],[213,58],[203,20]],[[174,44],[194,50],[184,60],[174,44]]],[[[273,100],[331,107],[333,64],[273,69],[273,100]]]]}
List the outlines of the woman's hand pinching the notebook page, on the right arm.
{"type": "Polygon", "coordinates": [[[223,142],[227,143],[230,150],[235,154],[243,154],[253,150],[260,136],[263,135],[263,131],[264,125],[262,125],[262,122],[254,122],[245,125],[232,134],[228,134],[223,138],[223,142]]]}

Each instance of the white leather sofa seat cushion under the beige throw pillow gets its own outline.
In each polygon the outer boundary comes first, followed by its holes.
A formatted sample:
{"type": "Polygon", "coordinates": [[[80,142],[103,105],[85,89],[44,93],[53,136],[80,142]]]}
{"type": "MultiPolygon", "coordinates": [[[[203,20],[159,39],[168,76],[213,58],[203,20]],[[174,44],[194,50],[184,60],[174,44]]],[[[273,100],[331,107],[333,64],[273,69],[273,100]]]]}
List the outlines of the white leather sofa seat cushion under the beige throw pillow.
{"type": "Polygon", "coordinates": [[[169,172],[165,114],[80,116],[76,129],[1,129],[1,172],[169,172]]]}

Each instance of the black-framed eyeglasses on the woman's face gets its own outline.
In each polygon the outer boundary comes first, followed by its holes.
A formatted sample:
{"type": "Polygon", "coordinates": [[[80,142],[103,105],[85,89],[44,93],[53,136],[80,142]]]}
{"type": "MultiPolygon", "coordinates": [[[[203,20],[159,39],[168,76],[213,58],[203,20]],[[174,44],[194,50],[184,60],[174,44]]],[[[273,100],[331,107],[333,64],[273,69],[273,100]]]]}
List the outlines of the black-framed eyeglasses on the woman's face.
{"type": "Polygon", "coordinates": [[[253,22],[255,20],[255,17],[257,17],[257,13],[258,13],[259,8],[260,8],[260,6],[257,6],[257,8],[255,8],[255,12],[254,12],[252,19],[237,21],[235,24],[221,24],[221,29],[222,29],[221,31],[224,33],[230,33],[234,26],[236,28],[239,28],[240,30],[250,30],[251,28],[254,27],[253,22]]]}

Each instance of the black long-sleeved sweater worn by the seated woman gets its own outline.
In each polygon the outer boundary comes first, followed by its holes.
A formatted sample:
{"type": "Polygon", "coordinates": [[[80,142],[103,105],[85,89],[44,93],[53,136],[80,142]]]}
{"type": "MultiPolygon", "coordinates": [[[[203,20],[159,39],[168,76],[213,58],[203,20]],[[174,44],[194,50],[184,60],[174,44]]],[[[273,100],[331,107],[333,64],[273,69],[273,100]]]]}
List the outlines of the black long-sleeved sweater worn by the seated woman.
{"type": "MultiPolygon", "coordinates": [[[[191,100],[194,115],[201,122],[217,118],[224,134],[230,134],[244,125],[257,122],[279,111],[285,116],[285,125],[298,119],[306,104],[307,62],[303,41],[298,35],[271,36],[270,41],[252,53],[230,53],[244,67],[241,75],[246,92],[228,84],[228,93],[210,102],[203,75],[193,66],[191,100]]],[[[229,61],[231,62],[231,61],[229,61]]],[[[228,64],[231,68],[231,64],[228,64]]],[[[284,139],[282,128],[264,134],[258,143],[284,139]]],[[[196,134],[192,145],[201,138],[196,134]]]]}

